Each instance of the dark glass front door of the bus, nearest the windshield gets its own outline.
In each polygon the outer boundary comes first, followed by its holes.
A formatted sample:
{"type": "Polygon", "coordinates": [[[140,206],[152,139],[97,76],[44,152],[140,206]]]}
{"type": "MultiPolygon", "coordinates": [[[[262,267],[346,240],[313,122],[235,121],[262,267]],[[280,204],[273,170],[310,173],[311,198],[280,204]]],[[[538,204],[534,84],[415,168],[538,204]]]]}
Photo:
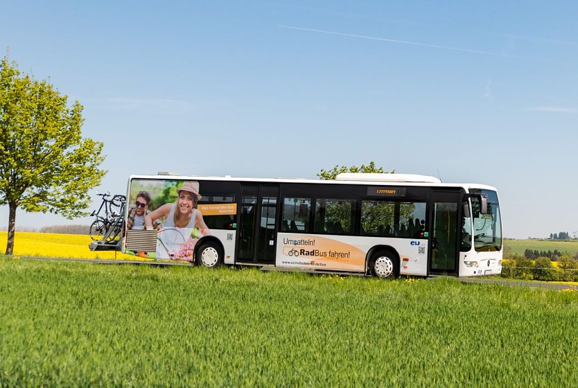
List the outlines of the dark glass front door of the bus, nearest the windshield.
{"type": "Polygon", "coordinates": [[[429,274],[457,274],[461,204],[462,192],[459,190],[431,192],[429,274]]]}

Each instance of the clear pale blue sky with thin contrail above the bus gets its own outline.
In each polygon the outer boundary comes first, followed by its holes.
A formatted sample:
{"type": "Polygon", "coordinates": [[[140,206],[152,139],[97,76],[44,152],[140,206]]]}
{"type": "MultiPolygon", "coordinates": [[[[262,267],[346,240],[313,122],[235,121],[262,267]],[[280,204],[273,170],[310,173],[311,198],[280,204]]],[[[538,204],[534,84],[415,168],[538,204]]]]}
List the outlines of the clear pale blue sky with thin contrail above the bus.
{"type": "MultiPolygon", "coordinates": [[[[84,105],[84,136],[105,143],[99,191],[373,160],[496,186],[505,235],[527,238],[578,230],[576,15],[573,1],[9,1],[0,47],[84,105]]],[[[89,218],[17,213],[69,223],[89,218]]]]}

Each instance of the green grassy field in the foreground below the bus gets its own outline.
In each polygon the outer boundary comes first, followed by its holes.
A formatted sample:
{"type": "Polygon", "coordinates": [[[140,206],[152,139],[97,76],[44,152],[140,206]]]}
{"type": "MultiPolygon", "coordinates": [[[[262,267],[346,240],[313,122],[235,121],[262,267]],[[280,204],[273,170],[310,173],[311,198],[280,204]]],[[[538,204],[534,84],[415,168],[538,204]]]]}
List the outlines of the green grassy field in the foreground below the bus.
{"type": "Polygon", "coordinates": [[[0,386],[578,385],[578,292],[0,258],[0,386]]]}

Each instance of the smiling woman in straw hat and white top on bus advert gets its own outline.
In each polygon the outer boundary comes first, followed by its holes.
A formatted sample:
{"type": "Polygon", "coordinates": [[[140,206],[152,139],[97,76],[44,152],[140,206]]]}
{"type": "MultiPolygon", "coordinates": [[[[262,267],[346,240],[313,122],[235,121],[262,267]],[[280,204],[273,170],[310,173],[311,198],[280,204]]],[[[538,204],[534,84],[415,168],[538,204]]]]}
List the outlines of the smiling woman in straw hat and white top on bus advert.
{"type": "Polygon", "coordinates": [[[193,246],[191,234],[195,228],[202,236],[211,234],[202,213],[196,209],[198,200],[202,198],[199,194],[199,182],[183,182],[177,193],[179,196],[175,203],[164,204],[145,216],[146,229],[152,229],[152,222],[155,220],[166,218],[157,241],[157,258],[173,258],[177,249],[185,243],[193,246]],[[169,233],[170,231],[172,233],[169,233]]]}

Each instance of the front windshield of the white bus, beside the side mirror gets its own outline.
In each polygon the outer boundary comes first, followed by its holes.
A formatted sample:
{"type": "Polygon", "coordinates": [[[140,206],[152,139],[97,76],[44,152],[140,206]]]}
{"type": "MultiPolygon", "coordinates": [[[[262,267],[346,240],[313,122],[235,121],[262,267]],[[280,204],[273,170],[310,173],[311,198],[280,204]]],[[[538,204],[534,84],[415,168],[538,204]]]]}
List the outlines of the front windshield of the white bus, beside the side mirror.
{"type": "Polygon", "coordinates": [[[477,252],[496,252],[502,249],[502,220],[496,191],[471,189],[471,193],[487,197],[488,211],[480,213],[480,200],[472,197],[473,243],[477,252]]]}

